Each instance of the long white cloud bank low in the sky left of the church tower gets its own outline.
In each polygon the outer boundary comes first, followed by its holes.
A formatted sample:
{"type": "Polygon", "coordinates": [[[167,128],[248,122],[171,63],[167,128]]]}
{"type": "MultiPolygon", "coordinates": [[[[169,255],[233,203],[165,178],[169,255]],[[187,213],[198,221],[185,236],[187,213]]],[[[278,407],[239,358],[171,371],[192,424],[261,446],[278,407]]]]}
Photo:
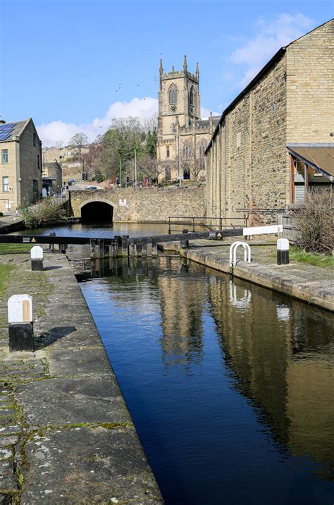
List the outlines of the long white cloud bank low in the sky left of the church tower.
{"type": "Polygon", "coordinates": [[[94,118],[92,123],[73,124],[64,121],[52,121],[37,126],[39,138],[43,145],[51,147],[57,140],[63,140],[68,144],[70,138],[75,133],[83,132],[94,140],[97,135],[104,133],[111,124],[113,118],[123,118],[127,116],[144,119],[158,112],[158,99],[152,97],[132,98],[130,102],[115,102],[109,106],[103,118],[94,118]]]}

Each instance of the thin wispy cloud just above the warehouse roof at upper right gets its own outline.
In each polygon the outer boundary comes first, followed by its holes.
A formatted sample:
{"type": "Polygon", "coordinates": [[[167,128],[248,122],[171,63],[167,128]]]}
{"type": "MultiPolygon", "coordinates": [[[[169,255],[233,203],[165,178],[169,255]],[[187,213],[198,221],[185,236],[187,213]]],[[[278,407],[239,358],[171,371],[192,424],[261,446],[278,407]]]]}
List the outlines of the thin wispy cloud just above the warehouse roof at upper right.
{"type": "Polygon", "coordinates": [[[304,35],[314,21],[301,13],[292,16],[280,14],[268,22],[260,18],[255,24],[256,35],[233,51],[230,60],[235,66],[242,66],[242,78],[237,80],[238,87],[245,87],[271,57],[292,40],[304,35]]]}

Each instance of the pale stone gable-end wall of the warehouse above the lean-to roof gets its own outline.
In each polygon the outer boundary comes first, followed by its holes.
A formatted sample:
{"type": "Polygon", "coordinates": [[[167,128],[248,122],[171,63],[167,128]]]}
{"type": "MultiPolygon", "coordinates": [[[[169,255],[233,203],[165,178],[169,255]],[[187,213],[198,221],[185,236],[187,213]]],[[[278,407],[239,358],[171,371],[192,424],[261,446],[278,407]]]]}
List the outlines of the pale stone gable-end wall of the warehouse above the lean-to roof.
{"type": "Polygon", "coordinates": [[[287,142],[333,142],[334,20],[287,47],[287,142]]]}

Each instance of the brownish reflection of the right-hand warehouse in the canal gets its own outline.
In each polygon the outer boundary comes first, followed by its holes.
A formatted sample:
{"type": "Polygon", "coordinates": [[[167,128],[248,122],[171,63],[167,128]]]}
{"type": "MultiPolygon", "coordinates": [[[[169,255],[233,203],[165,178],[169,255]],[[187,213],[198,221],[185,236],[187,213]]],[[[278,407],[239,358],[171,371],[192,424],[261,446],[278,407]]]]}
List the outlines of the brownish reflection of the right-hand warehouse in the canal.
{"type": "Polygon", "coordinates": [[[252,286],[252,298],[235,303],[231,285],[212,277],[209,298],[225,363],[235,386],[258,407],[261,422],[295,456],[326,464],[319,472],[333,480],[333,316],[252,286]],[[332,461],[332,463],[330,463],[332,461]]]}

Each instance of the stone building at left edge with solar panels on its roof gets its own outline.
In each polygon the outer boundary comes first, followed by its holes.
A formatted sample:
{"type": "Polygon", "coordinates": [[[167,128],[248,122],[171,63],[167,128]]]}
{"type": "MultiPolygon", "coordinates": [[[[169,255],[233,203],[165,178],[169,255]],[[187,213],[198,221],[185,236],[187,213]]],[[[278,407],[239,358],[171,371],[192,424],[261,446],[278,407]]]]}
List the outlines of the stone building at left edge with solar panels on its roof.
{"type": "Polygon", "coordinates": [[[42,195],[42,142],[32,118],[0,121],[0,210],[16,210],[42,195]]]}

